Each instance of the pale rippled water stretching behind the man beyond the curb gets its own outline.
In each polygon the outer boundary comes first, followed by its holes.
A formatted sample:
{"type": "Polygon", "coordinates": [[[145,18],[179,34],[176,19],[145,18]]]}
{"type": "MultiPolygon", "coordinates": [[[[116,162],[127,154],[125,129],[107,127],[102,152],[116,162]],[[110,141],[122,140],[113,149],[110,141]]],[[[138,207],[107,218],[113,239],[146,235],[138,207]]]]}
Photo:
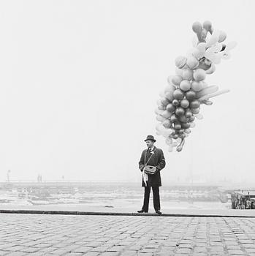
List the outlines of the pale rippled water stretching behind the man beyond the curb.
{"type": "MultiPolygon", "coordinates": [[[[216,186],[172,185],[160,188],[161,208],[226,210],[231,202],[216,186]]],[[[66,211],[137,211],[142,206],[140,183],[42,182],[1,184],[1,209],[66,211]]],[[[151,192],[151,208],[153,206],[151,192]]]]}

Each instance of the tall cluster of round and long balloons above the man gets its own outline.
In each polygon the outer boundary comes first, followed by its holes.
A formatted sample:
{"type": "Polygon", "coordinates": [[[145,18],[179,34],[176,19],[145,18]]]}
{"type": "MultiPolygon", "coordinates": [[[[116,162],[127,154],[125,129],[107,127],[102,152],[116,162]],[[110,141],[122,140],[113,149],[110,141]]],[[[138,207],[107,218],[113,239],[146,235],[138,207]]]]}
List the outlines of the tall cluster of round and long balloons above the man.
{"type": "Polygon", "coordinates": [[[202,119],[200,106],[212,105],[210,98],[229,91],[218,91],[218,86],[208,86],[205,77],[215,72],[221,59],[229,59],[230,50],[236,42],[224,44],[227,34],[214,30],[210,21],[203,24],[195,22],[192,29],[196,34],[193,48],[186,56],[175,59],[175,75],[167,78],[168,85],[161,92],[155,110],[159,121],[156,134],[164,136],[169,151],[174,147],[178,152],[182,150],[185,138],[195,126],[195,118],[202,119]]]}

